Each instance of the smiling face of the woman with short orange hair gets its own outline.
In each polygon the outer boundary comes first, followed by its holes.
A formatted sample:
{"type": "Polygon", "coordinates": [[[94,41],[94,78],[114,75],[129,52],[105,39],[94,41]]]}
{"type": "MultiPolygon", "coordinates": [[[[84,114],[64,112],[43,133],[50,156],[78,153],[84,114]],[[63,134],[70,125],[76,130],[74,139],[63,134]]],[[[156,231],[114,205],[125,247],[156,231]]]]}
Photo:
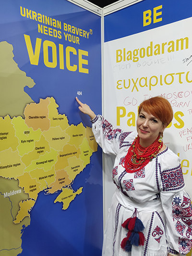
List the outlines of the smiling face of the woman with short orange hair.
{"type": "Polygon", "coordinates": [[[137,133],[141,146],[150,146],[164,130],[163,123],[154,115],[141,109],[137,118],[137,133]]]}

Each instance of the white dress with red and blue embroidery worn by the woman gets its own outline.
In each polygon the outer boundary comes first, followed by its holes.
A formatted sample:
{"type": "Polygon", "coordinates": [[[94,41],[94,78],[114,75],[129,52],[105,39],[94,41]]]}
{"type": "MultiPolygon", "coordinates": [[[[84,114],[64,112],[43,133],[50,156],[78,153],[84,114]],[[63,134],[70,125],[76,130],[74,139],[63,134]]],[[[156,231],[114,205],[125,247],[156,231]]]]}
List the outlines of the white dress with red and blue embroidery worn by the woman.
{"type": "Polygon", "coordinates": [[[141,171],[127,173],[123,158],[137,133],[113,130],[97,115],[93,133],[104,153],[116,155],[112,179],[117,186],[112,198],[104,234],[103,256],[167,256],[187,254],[192,247],[192,207],[184,190],[180,159],[168,147],[141,171]],[[121,224],[137,208],[144,224],[143,246],[132,245],[126,252],[120,247],[128,232],[121,224]]]}

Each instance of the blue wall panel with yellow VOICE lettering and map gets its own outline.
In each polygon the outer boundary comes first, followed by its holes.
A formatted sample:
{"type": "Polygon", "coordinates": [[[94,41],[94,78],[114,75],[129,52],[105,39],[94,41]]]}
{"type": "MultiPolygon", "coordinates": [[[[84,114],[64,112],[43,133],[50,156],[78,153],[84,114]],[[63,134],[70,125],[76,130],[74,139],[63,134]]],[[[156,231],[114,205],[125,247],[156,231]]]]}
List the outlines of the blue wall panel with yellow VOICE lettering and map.
{"type": "Polygon", "coordinates": [[[101,255],[101,17],[67,0],[0,8],[0,254],[101,255]],[[3,209],[3,210],[2,210],[3,209]]]}

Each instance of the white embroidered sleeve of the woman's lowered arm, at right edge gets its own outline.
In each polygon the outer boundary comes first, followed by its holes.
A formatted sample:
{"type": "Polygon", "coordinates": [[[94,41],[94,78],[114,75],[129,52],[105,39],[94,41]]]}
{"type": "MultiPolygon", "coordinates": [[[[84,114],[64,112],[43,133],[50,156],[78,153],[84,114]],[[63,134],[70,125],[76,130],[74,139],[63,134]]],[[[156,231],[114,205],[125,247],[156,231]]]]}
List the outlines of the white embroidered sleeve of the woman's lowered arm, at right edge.
{"type": "Polygon", "coordinates": [[[166,217],[168,252],[187,254],[192,248],[192,206],[184,190],[179,158],[173,168],[161,171],[161,202],[166,217]]]}

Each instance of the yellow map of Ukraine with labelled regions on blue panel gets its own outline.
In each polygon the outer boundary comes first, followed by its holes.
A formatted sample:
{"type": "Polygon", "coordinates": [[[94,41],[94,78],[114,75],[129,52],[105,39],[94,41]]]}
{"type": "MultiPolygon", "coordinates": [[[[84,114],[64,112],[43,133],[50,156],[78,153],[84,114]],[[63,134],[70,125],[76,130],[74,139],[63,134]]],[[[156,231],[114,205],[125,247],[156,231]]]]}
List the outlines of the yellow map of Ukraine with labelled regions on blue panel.
{"type": "MultiPolygon", "coordinates": [[[[62,202],[63,209],[82,192],[82,187],[74,192],[71,183],[90,163],[97,145],[90,127],[69,126],[58,107],[54,98],[40,99],[38,104],[27,104],[24,119],[0,117],[0,176],[18,179],[19,187],[29,195],[19,203],[14,223],[29,215],[42,190],[62,189],[55,202],[62,202]]],[[[14,193],[5,191],[4,197],[14,193]]]]}

